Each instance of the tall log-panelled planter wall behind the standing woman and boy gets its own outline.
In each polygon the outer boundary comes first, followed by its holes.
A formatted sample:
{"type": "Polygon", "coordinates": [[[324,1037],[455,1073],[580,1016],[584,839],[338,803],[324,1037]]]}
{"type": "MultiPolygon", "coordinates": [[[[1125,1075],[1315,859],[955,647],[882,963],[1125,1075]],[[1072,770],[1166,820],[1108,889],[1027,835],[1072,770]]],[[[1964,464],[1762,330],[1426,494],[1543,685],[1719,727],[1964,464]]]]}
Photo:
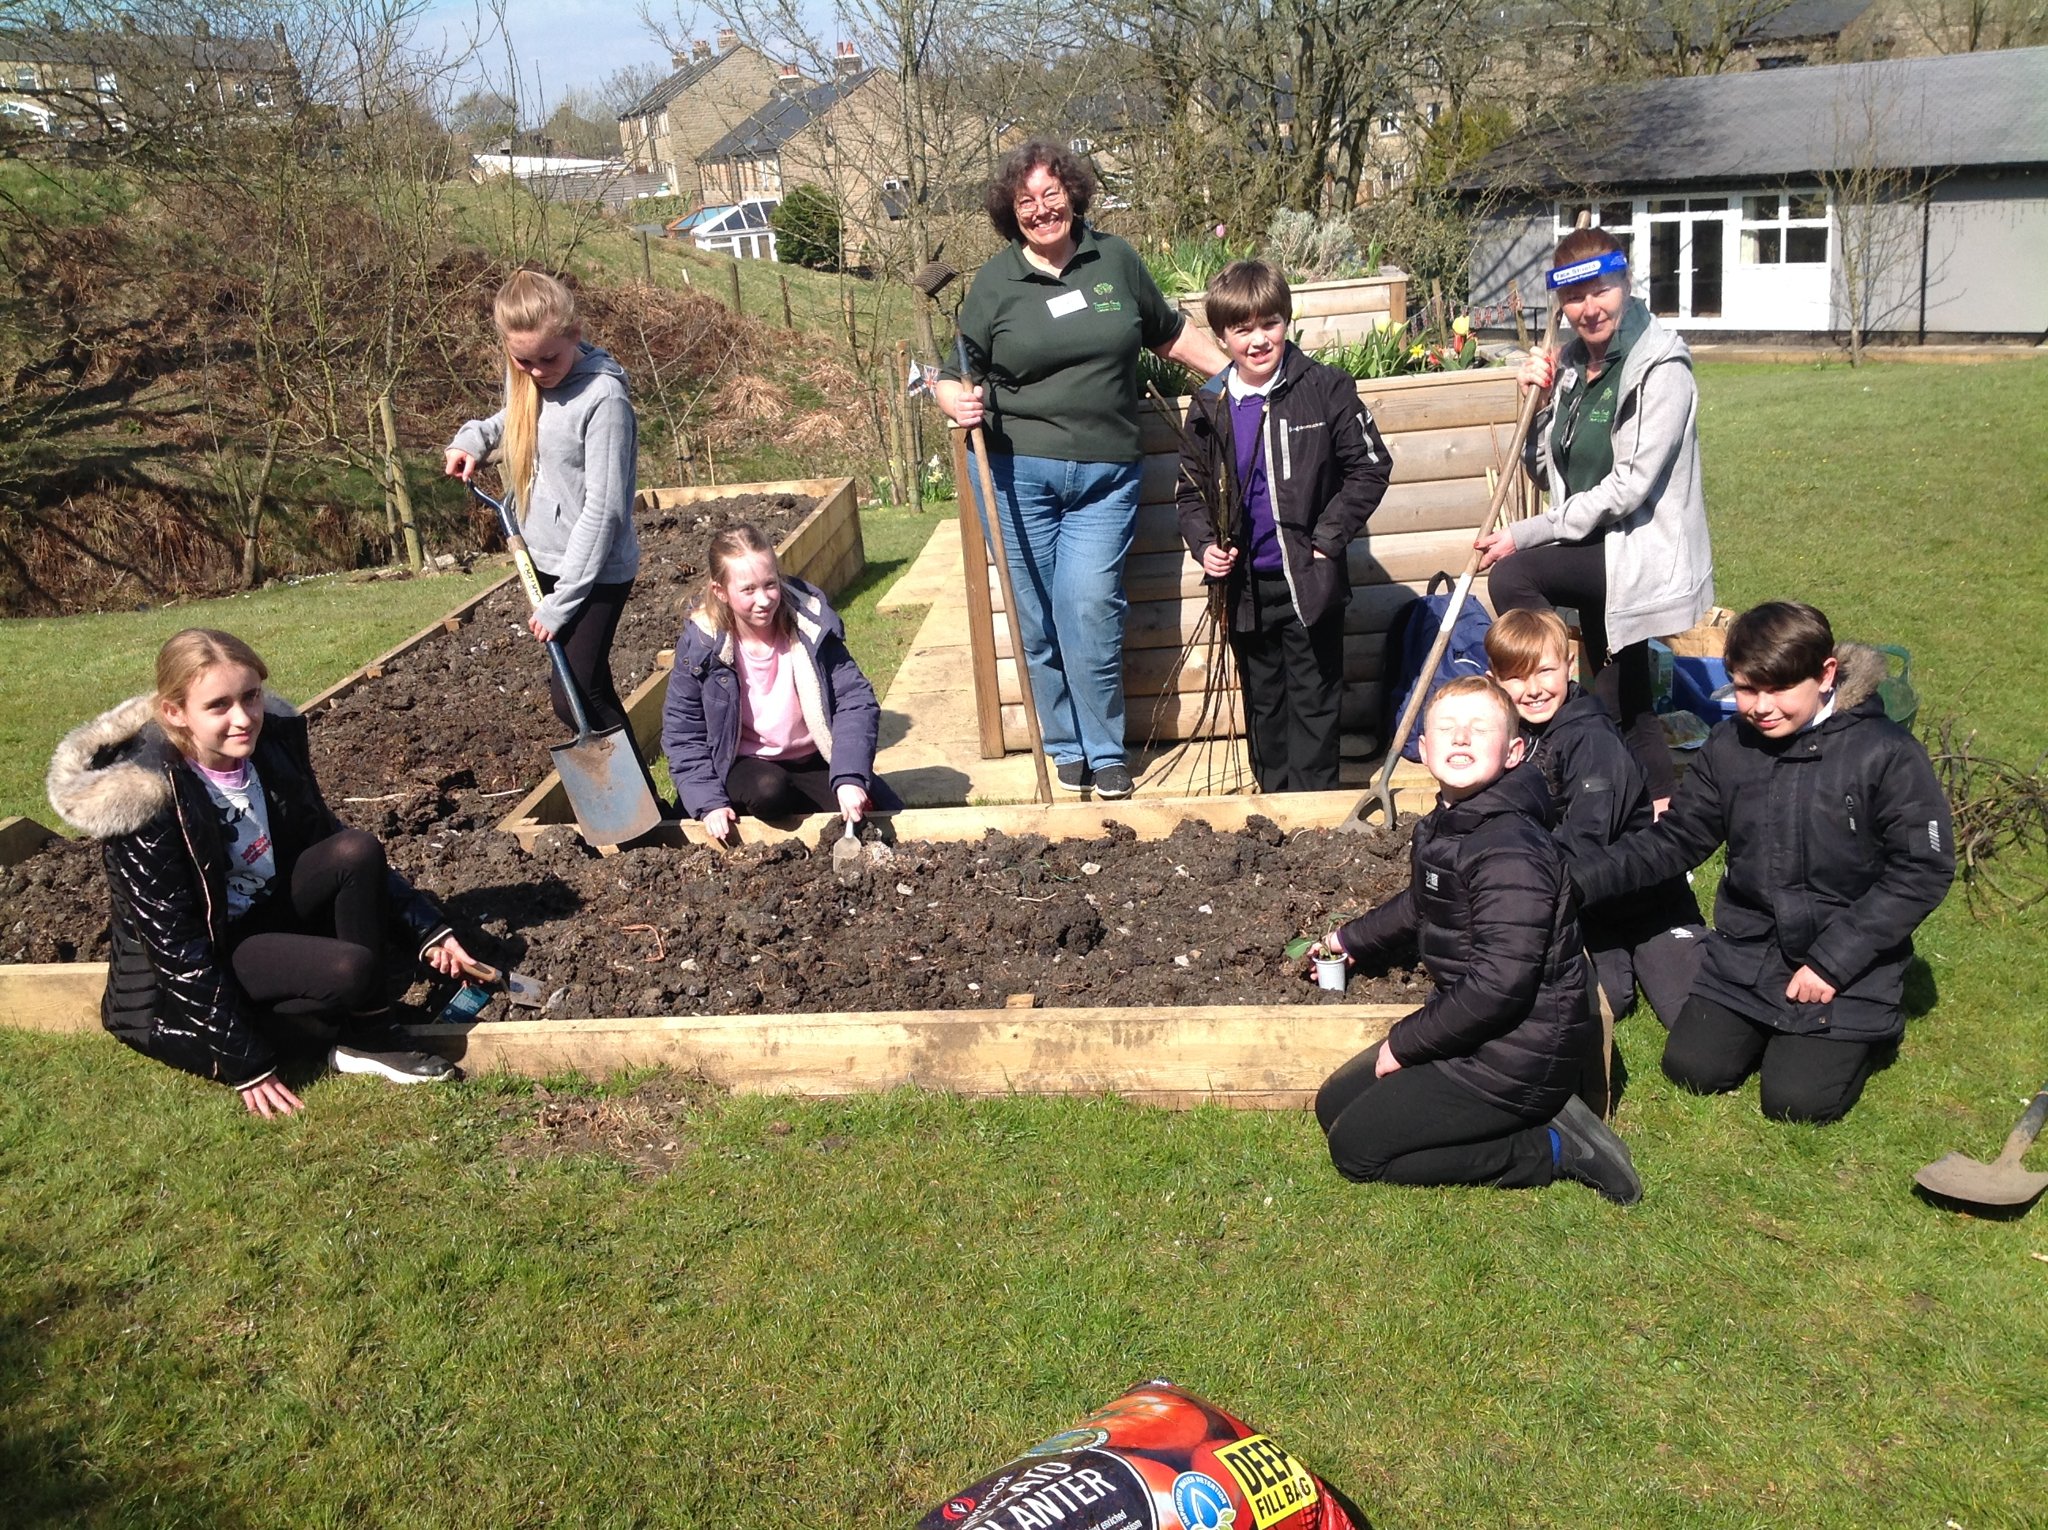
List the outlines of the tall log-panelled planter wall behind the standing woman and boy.
{"type": "MultiPolygon", "coordinates": [[[[1401,606],[1436,573],[1456,576],[1487,514],[1487,469],[1505,465],[1520,397],[1513,371],[1489,367],[1436,377],[1386,377],[1358,385],[1393,455],[1386,498],[1352,543],[1352,602],[1343,614],[1343,733],[1348,756],[1372,754],[1380,715],[1380,660],[1401,606]]],[[[1186,408],[1180,399],[1176,408],[1186,408]]],[[[1143,418],[1145,469],[1139,522],[1124,563],[1130,612],[1124,621],[1124,737],[1182,739],[1194,731],[1206,680],[1204,651],[1178,666],[1204,606],[1202,571],[1188,557],[1174,510],[1180,447],[1155,408],[1143,418]]],[[[954,481],[973,483],[965,432],[954,430],[954,481]]],[[[1520,469],[1511,469],[1520,471],[1520,469]]],[[[975,662],[981,754],[993,760],[1028,748],[1024,692],[1010,653],[1001,584],[987,557],[975,496],[961,494],[967,627],[975,662]]],[[[1012,565],[1016,576],[1016,567],[1012,565]]],[[[1018,576],[1020,578],[1020,576],[1018,576]]],[[[1485,584],[1475,590],[1485,598],[1485,584]]],[[[1235,700],[1223,725],[1241,731],[1235,700]]]]}

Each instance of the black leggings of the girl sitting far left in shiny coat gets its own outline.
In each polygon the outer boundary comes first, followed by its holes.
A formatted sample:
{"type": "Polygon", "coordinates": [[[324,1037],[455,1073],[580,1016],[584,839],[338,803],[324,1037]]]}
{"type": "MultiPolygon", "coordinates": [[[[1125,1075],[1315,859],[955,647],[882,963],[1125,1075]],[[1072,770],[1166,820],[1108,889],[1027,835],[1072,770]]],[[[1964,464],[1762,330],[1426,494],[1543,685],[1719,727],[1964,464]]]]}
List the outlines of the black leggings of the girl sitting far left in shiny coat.
{"type": "Polygon", "coordinates": [[[227,965],[252,1004],[283,1016],[346,1016],[381,1002],[385,854],[342,830],[311,846],[291,885],[227,926],[227,965]]]}

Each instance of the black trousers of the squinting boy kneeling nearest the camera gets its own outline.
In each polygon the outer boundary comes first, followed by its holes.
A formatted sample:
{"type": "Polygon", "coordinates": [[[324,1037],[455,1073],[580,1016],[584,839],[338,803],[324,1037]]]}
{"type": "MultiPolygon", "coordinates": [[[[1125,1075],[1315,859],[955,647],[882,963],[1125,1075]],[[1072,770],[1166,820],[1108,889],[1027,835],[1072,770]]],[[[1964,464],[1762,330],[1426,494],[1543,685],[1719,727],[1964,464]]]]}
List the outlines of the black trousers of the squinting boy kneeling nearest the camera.
{"type": "Polygon", "coordinates": [[[1378,1061],[1380,1047],[1368,1047],[1315,1096],[1329,1161],[1346,1180],[1491,1184],[1499,1190],[1550,1184],[1548,1124],[1481,1100],[1440,1063],[1413,1063],[1376,1079],[1378,1061]]]}

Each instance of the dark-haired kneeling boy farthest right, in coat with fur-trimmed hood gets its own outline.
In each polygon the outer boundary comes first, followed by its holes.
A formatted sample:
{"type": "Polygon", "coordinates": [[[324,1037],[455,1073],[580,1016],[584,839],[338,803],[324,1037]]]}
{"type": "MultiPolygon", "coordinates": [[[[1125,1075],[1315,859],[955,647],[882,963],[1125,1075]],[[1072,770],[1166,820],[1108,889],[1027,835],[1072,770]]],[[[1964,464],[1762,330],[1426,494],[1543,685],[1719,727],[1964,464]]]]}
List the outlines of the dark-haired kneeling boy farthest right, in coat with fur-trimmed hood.
{"type": "Polygon", "coordinates": [[[1729,627],[1739,717],[1700,750],[1657,823],[1575,856],[1587,905],[1696,866],[1729,868],[1700,977],[1665,1043],[1702,1094],[1761,1073],[1772,1120],[1841,1120],[1905,1034],[1913,930],[1956,877],[1927,752],[1884,717],[1884,657],[1827,617],[1774,600],[1729,627]]]}

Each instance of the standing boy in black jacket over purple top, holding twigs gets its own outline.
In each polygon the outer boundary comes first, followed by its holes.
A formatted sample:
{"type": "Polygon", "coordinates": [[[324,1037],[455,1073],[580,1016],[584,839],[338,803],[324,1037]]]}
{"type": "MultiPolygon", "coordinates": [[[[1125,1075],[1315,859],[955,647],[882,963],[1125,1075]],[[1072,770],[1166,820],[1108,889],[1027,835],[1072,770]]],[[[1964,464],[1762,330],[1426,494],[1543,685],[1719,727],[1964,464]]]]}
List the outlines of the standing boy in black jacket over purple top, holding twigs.
{"type": "Polygon", "coordinates": [[[1288,342],[1292,315],[1286,279],[1264,260],[1208,285],[1231,369],[1188,408],[1180,535],[1227,590],[1260,791],[1335,791],[1348,549],[1391,461],[1358,383],[1288,342]]]}

